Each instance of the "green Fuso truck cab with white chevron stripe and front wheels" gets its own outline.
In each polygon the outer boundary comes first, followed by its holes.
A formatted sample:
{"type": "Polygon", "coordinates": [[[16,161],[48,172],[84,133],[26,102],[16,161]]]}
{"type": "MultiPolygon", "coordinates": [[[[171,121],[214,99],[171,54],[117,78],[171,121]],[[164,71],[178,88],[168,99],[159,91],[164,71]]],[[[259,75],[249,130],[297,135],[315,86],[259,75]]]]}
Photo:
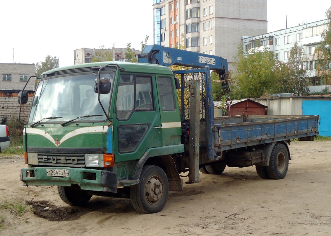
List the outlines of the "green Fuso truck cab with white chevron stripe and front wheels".
{"type": "Polygon", "coordinates": [[[171,69],[98,62],[43,73],[24,128],[24,150],[28,168],[20,178],[26,186],[57,185],[70,205],[92,195],[130,196],[139,212],[161,211],[169,184],[182,189],[169,167],[171,155],[184,151],[171,69]],[[98,72],[109,92],[98,94],[98,72]]]}

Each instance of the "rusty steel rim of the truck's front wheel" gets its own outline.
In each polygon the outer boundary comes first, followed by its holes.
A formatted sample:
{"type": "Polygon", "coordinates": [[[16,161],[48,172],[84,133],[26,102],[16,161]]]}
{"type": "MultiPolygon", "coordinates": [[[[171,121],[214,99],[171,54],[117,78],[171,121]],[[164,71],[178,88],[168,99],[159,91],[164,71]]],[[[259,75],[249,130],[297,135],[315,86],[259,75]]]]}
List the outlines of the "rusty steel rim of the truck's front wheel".
{"type": "Polygon", "coordinates": [[[146,199],[152,204],[156,205],[161,200],[163,195],[163,183],[158,176],[152,176],[146,184],[145,188],[146,199]]]}

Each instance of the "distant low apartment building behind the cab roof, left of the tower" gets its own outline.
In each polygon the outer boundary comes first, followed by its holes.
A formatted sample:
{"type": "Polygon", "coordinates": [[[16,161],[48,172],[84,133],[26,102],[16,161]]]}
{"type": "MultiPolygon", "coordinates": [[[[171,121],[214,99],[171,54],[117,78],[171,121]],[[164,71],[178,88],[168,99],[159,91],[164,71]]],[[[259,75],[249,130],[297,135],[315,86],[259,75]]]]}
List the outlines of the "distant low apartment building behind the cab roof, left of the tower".
{"type": "MultiPolygon", "coordinates": [[[[140,50],[131,49],[134,51],[135,58],[138,59],[138,54],[141,54],[140,50]]],[[[95,48],[80,48],[73,50],[74,64],[82,64],[91,62],[92,57],[97,55],[100,51],[111,52],[113,55],[113,61],[128,61],[125,58],[126,48],[111,48],[111,49],[95,49],[95,48]]]]}

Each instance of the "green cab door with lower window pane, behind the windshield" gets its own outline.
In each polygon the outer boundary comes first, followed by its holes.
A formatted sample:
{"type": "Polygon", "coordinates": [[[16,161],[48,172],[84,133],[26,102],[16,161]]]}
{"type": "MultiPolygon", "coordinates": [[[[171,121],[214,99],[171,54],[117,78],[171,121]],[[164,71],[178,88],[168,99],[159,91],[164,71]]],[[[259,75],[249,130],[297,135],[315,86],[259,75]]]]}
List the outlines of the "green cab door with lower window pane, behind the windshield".
{"type": "Polygon", "coordinates": [[[120,74],[114,113],[116,162],[140,159],[148,148],[162,146],[161,117],[155,103],[153,76],[120,74]]]}

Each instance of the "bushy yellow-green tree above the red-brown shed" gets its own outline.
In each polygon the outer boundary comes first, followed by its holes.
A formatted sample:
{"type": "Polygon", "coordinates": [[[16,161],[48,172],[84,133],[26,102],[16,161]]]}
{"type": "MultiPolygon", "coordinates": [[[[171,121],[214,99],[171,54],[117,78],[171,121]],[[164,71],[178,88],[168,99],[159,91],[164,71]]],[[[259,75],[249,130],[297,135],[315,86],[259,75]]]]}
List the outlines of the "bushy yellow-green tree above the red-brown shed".
{"type": "Polygon", "coordinates": [[[239,45],[234,66],[236,70],[232,75],[232,99],[258,98],[266,93],[277,92],[278,64],[268,48],[252,48],[243,53],[243,47],[239,45]]]}

